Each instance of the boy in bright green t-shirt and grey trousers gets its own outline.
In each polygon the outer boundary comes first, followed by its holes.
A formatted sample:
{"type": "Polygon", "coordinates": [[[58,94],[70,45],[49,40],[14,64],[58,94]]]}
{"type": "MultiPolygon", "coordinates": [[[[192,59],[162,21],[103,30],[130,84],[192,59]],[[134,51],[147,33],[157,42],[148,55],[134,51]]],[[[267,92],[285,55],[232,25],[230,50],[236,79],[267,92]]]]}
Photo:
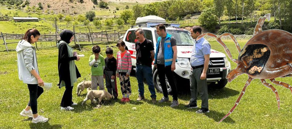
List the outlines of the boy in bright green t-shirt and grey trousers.
{"type": "Polygon", "coordinates": [[[105,59],[100,55],[100,47],[95,45],[92,47],[93,54],[89,57],[89,66],[91,66],[91,85],[93,90],[104,90],[103,70],[105,69],[105,59]]]}

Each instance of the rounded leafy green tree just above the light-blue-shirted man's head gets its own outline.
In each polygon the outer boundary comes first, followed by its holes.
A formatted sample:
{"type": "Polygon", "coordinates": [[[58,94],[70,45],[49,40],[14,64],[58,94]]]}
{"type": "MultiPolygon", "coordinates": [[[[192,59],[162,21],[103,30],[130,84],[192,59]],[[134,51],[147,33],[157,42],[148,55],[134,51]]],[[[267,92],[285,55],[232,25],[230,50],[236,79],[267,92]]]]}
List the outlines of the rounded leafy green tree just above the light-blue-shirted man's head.
{"type": "Polygon", "coordinates": [[[206,28],[212,28],[217,25],[217,18],[213,14],[214,8],[208,8],[204,10],[199,16],[199,23],[206,28]]]}

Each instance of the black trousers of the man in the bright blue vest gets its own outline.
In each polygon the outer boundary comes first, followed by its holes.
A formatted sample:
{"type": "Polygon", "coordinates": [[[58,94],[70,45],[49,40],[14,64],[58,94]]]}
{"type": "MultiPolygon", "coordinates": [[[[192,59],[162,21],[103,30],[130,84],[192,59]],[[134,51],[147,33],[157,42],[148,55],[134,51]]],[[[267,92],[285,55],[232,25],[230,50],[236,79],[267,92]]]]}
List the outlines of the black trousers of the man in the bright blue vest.
{"type": "Polygon", "coordinates": [[[165,76],[168,80],[168,83],[171,87],[171,93],[173,100],[178,100],[178,92],[175,84],[175,77],[173,74],[173,71],[171,71],[171,66],[165,66],[164,64],[157,64],[157,72],[158,72],[158,77],[159,77],[159,82],[161,84],[163,96],[165,98],[168,98],[168,92],[167,92],[167,87],[165,83],[165,76]]]}

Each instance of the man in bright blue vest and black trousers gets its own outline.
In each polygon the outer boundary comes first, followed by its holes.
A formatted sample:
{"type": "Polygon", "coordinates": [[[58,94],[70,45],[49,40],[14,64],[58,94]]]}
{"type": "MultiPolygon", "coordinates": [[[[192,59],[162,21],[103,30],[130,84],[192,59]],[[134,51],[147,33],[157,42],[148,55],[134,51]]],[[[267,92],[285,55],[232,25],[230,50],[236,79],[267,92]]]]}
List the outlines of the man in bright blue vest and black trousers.
{"type": "Polygon", "coordinates": [[[156,26],[157,34],[159,35],[156,44],[154,67],[157,68],[159,82],[161,84],[163,98],[159,103],[169,101],[168,92],[165,82],[165,76],[171,87],[173,101],[170,107],[178,106],[178,93],[175,84],[175,77],[173,71],[175,70],[175,62],[177,59],[176,40],[173,36],[166,33],[164,24],[156,26]]]}

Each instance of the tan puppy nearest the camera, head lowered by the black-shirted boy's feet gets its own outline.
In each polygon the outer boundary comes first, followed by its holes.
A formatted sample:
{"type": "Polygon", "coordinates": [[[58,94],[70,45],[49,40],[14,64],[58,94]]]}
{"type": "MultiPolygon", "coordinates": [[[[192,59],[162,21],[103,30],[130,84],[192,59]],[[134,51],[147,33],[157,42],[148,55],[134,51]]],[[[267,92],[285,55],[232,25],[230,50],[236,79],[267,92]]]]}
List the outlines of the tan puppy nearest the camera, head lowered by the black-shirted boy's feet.
{"type": "Polygon", "coordinates": [[[112,95],[105,90],[92,90],[91,88],[87,88],[86,98],[81,105],[83,105],[88,99],[94,104],[94,98],[98,98],[98,106],[100,106],[101,100],[111,100],[112,95]]]}

